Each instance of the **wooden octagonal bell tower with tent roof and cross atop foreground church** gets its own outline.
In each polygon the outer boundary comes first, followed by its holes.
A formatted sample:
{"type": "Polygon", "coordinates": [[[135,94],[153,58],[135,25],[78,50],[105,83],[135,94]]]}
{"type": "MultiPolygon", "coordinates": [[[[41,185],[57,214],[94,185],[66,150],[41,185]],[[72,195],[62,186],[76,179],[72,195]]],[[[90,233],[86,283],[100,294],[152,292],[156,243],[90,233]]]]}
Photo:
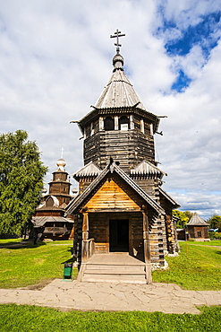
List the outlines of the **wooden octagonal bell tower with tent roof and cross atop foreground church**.
{"type": "Polygon", "coordinates": [[[142,161],[155,162],[154,134],[159,118],[145,109],[123,71],[119,37],[114,71],[91,112],[78,122],[84,137],[84,164],[103,170],[112,158],[127,173],[142,161]]]}

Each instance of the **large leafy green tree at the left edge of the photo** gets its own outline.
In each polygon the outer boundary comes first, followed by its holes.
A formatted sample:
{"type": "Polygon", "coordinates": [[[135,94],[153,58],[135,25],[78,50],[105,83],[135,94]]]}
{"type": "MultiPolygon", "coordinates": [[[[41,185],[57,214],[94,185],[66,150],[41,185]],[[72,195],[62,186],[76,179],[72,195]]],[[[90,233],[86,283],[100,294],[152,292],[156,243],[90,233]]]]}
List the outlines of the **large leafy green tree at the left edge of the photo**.
{"type": "Polygon", "coordinates": [[[0,234],[21,235],[40,201],[46,172],[27,132],[0,135],[0,234]]]}

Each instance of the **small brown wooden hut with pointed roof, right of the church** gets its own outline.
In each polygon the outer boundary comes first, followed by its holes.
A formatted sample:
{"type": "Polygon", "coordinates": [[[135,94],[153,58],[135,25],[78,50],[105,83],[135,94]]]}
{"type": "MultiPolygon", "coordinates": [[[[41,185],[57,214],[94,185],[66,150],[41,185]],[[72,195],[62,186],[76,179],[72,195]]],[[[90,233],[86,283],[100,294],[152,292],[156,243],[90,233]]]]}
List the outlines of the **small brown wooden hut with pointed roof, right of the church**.
{"type": "Polygon", "coordinates": [[[199,214],[194,212],[189,223],[186,224],[189,239],[197,241],[209,240],[208,226],[199,214]]]}

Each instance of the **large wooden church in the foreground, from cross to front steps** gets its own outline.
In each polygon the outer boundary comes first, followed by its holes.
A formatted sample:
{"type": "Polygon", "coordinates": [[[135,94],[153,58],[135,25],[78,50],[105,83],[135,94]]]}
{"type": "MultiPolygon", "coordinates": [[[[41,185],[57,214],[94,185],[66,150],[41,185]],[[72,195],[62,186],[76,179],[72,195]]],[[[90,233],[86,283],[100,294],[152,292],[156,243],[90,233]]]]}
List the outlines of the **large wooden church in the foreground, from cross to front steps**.
{"type": "Polygon", "coordinates": [[[116,31],[114,71],[93,109],[77,122],[84,137],[84,167],[73,174],[79,195],[74,250],[81,281],[150,283],[151,269],[177,254],[172,210],[162,188],[154,135],[159,117],[149,112],[123,71],[116,31]]]}

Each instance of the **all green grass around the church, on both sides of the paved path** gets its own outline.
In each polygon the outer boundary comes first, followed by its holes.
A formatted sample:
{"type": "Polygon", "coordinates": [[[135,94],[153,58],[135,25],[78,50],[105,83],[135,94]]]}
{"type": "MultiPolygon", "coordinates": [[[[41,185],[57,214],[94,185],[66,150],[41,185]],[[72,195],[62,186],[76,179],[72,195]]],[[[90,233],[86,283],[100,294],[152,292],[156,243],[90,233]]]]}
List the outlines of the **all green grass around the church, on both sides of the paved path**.
{"type": "MultiPolygon", "coordinates": [[[[0,288],[44,284],[62,278],[64,262],[72,255],[72,241],[32,242],[7,246],[12,240],[1,241],[0,288]]],[[[207,243],[207,242],[205,242],[207,243]]],[[[180,284],[186,289],[221,289],[221,249],[180,242],[181,254],[167,258],[169,270],[155,271],[157,282],[180,284]]],[[[194,243],[195,244],[195,243],[194,243]]],[[[198,243],[197,243],[198,244],[198,243]]],[[[218,245],[218,244],[217,244],[218,245]]],[[[77,273],[77,270],[74,270],[77,273]]],[[[0,305],[0,331],[74,331],[74,332],[217,332],[221,326],[221,307],[202,307],[200,315],[164,314],[162,312],[81,312],[37,306],[0,305]]]]}

